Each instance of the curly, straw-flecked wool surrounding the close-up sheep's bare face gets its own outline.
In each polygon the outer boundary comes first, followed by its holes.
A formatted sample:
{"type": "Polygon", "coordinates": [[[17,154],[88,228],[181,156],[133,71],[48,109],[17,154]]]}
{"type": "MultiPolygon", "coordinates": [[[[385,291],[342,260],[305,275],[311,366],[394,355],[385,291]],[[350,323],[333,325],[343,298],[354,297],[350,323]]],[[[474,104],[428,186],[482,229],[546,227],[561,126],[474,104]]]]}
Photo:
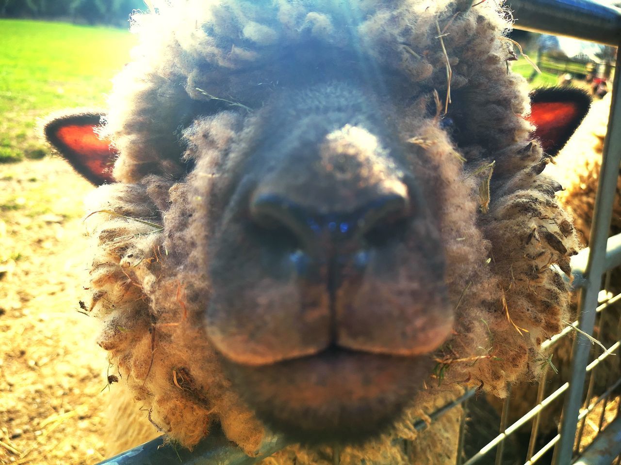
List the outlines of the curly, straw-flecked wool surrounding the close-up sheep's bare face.
{"type": "MultiPolygon", "coordinates": [[[[507,382],[537,376],[540,344],[560,330],[568,306],[551,265],[568,272],[576,238],[555,200],[556,183],[541,174],[548,158],[520,116],[528,112],[527,86],[505,71],[509,55],[500,37],[509,24],[493,2],[453,17],[459,3],[187,0],[135,18],[142,43],[116,79],[104,128],[120,152],[119,184],[99,188],[89,204],[101,212],[89,220],[96,241],[91,310],[102,321],[99,344],[173,440],[191,447],[219,421],[253,454],[269,434],[230,389],[203,327],[205,230],[221,213],[209,208],[224,195],[222,179],[238,161],[234,142],[244,135],[232,112],[190,123],[222,99],[233,110],[260,108],[272,92],[295,86],[299,69],[330,73],[327,64],[353,56],[390,69],[386,86],[404,101],[433,89],[446,95],[442,27],[453,71],[451,112],[462,128],[457,146],[437,120],[421,120],[420,99],[403,105],[399,136],[413,153],[424,152],[410,161],[435,193],[455,334],[435,354],[440,379],[427,381],[406,418],[430,411],[458,385],[502,396],[507,382]],[[284,59],[291,50],[295,66],[284,59]],[[196,169],[179,180],[188,159],[196,169]],[[489,211],[480,213],[492,161],[489,211]]],[[[456,437],[453,417],[446,418],[440,429],[456,437]]],[[[414,438],[406,431],[397,427],[345,456],[399,463],[396,439],[414,438]]],[[[319,452],[288,449],[281,458],[302,454],[318,460],[319,452]]]]}

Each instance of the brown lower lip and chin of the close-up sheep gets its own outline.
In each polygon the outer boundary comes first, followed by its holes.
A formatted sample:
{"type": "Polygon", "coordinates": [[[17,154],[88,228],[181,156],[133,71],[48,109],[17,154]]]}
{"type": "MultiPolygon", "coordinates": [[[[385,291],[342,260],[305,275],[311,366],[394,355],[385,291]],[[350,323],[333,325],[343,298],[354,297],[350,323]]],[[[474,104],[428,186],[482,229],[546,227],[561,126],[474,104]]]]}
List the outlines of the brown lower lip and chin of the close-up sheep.
{"type": "Polygon", "coordinates": [[[258,418],[289,440],[360,444],[385,432],[432,370],[428,356],[329,348],[266,366],[225,362],[258,418]]]}

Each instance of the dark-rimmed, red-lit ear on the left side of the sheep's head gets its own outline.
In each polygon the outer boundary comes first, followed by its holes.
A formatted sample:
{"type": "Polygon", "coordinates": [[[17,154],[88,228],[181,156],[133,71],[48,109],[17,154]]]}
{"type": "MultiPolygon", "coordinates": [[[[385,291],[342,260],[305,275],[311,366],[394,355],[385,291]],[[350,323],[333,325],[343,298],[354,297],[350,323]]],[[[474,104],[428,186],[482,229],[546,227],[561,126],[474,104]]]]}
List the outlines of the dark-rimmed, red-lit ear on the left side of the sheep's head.
{"type": "Polygon", "coordinates": [[[94,185],[114,182],[111,171],[117,151],[109,140],[99,138],[96,133],[102,116],[101,113],[65,115],[43,127],[48,142],[94,185]]]}

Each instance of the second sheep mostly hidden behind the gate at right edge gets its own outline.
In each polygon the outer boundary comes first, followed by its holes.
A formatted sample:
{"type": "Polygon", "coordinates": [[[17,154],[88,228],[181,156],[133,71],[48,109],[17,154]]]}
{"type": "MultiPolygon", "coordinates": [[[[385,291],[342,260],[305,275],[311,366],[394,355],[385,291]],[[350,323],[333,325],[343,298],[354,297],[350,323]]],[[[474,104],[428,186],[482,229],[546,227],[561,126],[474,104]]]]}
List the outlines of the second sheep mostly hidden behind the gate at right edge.
{"type": "MultiPolygon", "coordinates": [[[[591,110],[584,118],[581,126],[569,139],[566,147],[560,151],[554,164],[549,164],[545,173],[558,180],[563,185],[563,190],[557,193],[557,198],[574,218],[574,227],[578,238],[586,246],[589,245],[591,233],[591,221],[595,204],[597,184],[599,182],[599,170],[602,161],[602,149],[610,113],[610,94],[602,100],[596,100],[591,110]]],[[[617,180],[617,194],[613,204],[612,221],[610,224],[610,236],[621,233],[621,177],[617,180]]],[[[619,283],[621,275],[619,270],[613,270],[607,291],[617,294],[621,291],[619,283]]],[[[603,343],[605,347],[610,347],[619,340],[619,321],[621,309],[618,304],[606,309],[599,314],[594,337],[603,343]]],[[[578,319],[575,303],[570,309],[570,321],[578,319]]],[[[546,395],[554,392],[562,384],[569,381],[571,376],[571,353],[573,338],[564,337],[559,340],[551,352],[551,363],[555,366],[555,371],[548,373],[546,379],[546,395]]],[[[595,350],[599,350],[594,346],[595,350]]],[[[599,353],[598,353],[599,355],[599,353]]],[[[590,376],[586,377],[585,393],[590,392],[591,396],[601,395],[615,379],[621,376],[618,356],[605,358],[597,370],[592,382],[590,376]],[[591,388],[587,386],[591,383],[591,388]]],[[[535,405],[537,389],[526,384],[514,388],[512,394],[512,409],[510,420],[524,415],[535,405]]],[[[590,401],[590,399],[589,399],[590,401]]],[[[494,402],[494,401],[492,401],[494,402]]],[[[499,402],[494,402],[497,409],[500,409],[499,402]]],[[[557,433],[558,423],[561,418],[562,401],[554,402],[546,407],[545,415],[540,422],[540,432],[543,435],[543,443],[551,439],[557,433]]],[[[530,426],[530,425],[528,425],[530,426]]],[[[525,428],[525,435],[530,433],[529,428],[525,428]],[[528,431],[526,431],[528,429],[528,431]]]]}

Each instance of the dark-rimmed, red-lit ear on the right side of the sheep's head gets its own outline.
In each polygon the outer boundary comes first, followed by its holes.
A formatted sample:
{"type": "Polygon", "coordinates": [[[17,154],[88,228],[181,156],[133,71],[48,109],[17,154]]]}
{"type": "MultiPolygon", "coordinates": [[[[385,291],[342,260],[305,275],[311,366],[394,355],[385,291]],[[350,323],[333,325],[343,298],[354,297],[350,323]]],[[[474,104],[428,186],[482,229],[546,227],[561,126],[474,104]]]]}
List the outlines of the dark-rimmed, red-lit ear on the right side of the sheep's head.
{"type": "Polygon", "coordinates": [[[530,123],[545,153],[555,156],[567,143],[591,107],[591,97],[573,87],[537,89],[530,95],[530,123]]]}

